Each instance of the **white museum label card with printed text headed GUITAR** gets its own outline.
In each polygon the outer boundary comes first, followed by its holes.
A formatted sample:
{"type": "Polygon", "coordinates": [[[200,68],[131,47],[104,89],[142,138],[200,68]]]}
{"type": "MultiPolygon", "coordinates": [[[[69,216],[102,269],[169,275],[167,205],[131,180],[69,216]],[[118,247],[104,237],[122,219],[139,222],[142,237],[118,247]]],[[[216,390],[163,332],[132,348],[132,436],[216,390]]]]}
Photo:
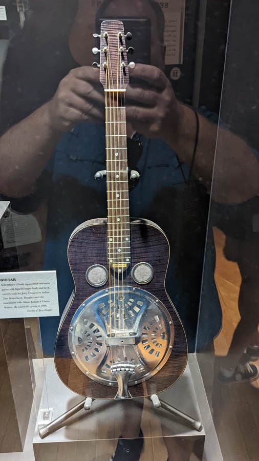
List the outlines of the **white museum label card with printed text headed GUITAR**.
{"type": "Polygon", "coordinates": [[[0,318],[59,316],[55,270],[0,273],[0,318]]]}

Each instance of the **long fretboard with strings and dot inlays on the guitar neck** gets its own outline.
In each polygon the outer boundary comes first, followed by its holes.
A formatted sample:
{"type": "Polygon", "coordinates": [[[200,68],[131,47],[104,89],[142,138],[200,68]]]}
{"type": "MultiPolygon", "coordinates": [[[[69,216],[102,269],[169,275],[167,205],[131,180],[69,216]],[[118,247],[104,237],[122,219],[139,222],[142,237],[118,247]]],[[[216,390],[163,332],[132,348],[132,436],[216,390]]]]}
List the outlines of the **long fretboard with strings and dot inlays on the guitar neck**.
{"type": "Polygon", "coordinates": [[[105,102],[108,257],[121,272],[131,262],[124,93],[107,92],[105,102]]]}

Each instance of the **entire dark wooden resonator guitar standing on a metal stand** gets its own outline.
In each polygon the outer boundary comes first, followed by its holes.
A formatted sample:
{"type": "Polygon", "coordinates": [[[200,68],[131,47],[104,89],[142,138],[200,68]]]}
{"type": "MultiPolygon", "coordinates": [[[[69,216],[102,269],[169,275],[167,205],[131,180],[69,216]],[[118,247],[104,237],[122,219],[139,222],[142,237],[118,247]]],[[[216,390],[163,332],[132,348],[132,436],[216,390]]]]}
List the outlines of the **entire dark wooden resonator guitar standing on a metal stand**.
{"type": "Polygon", "coordinates": [[[107,218],[79,225],[68,259],[74,292],[55,346],[60,379],[93,399],[131,399],[174,384],[187,361],[185,332],[165,279],[169,243],[162,229],[131,219],[123,23],[101,24],[100,81],[105,93],[107,218]]]}

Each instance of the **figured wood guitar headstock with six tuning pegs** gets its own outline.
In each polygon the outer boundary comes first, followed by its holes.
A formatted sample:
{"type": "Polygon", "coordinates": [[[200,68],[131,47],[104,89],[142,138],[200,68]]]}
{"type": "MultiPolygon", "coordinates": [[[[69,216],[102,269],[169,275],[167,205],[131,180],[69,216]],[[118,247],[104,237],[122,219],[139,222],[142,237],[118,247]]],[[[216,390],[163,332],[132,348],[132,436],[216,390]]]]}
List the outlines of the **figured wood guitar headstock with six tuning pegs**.
{"type": "Polygon", "coordinates": [[[93,66],[100,67],[100,82],[105,90],[124,91],[129,82],[128,67],[134,68],[135,63],[128,64],[127,53],[133,54],[132,47],[126,48],[126,40],[132,38],[128,32],[125,35],[123,23],[119,20],[109,19],[101,23],[100,50],[93,48],[93,53],[100,53],[100,64],[93,63],[93,66]]]}

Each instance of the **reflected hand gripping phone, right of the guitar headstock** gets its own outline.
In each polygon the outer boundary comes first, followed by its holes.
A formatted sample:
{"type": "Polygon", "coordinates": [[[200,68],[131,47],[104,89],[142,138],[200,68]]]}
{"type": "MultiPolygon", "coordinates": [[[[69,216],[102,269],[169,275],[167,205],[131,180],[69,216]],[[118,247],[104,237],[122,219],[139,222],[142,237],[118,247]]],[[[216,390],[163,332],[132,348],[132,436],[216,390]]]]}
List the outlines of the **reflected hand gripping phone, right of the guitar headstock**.
{"type": "Polygon", "coordinates": [[[136,64],[126,90],[126,117],[147,138],[171,143],[177,138],[183,110],[165,74],[154,66],[136,64]]]}

